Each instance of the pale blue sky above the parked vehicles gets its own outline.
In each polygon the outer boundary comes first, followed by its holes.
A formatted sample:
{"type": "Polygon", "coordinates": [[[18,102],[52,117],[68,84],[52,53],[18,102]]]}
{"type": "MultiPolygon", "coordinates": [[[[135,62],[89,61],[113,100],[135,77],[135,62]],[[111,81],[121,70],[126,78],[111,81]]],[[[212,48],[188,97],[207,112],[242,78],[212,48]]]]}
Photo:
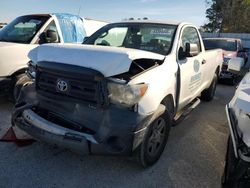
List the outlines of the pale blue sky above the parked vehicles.
{"type": "Polygon", "coordinates": [[[109,22],[124,18],[206,21],[205,0],[0,0],[0,22],[31,13],[73,13],[109,22]]]}

